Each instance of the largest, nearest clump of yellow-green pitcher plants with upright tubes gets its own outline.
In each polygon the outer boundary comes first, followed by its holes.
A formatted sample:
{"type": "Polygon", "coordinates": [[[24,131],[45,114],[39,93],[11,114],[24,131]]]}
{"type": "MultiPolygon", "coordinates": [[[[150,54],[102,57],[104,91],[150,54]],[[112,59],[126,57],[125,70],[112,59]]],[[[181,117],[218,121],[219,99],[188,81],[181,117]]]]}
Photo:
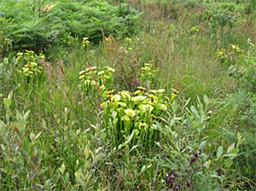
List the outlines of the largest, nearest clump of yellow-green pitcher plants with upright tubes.
{"type": "Polygon", "coordinates": [[[105,101],[101,104],[108,128],[113,133],[113,142],[118,145],[128,137],[134,143],[157,141],[160,132],[155,123],[163,121],[162,117],[177,96],[177,90],[173,90],[171,98],[164,96],[164,89],[147,91],[138,87],[134,93],[126,90],[114,92],[105,91],[105,101]]]}

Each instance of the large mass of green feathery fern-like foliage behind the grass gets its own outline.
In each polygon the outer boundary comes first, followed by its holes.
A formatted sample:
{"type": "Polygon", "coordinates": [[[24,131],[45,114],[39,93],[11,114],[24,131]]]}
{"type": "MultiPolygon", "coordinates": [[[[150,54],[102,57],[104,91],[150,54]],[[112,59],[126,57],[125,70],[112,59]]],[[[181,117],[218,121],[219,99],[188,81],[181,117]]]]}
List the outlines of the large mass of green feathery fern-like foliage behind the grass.
{"type": "MultiPolygon", "coordinates": [[[[0,1],[1,3],[2,1],[0,1]]],[[[52,43],[69,44],[74,37],[95,42],[106,35],[134,32],[139,20],[136,10],[127,5],[105,2],[38,4],[14,0],[1,3],[0,28],[15,49],[43,49],[52,43]]]]}

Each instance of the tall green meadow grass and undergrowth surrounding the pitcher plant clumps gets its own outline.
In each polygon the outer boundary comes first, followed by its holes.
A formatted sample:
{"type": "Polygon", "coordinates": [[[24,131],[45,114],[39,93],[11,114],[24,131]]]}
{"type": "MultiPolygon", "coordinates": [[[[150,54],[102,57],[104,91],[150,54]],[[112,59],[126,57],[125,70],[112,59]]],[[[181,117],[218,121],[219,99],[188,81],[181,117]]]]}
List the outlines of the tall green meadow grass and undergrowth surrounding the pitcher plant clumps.
{"type": "MultiPolygon", "coordinates": [[[[254,14],[237,9],[229,14],[237,16],[235,25],[217,25],[214,33],[205,9],[150,1],[129,6],[143,11],[129,33],[132,42],[103,31],[105,38],[86,48],[79,38],[49,44],[45,61],[37,61],[44,67],[38,81],[18,72],[24,64],[15,51],[0,54],[1,190],[255,188],[255,92],[240,86],[216,56],[231,44],[246,49],[247,38],[256,43],[254,14]],[[191,32],[195,26],[201,29],[191,32]],[[159,72],[140,84],[138,71],[148,61],[159,72]],[[79,72],[89,66],[115,68],[108,90],[133,93],[144,86],[165,89],[170,98],[172,89],[179,91],[150,127],[154,142],[134,135],[114,141],[109,119],[115,110],[104,113],[96,88],[79,89],[79,72]]],[[[9,46],[8,39],[0,42],[0,50],[9,46]]]]}

